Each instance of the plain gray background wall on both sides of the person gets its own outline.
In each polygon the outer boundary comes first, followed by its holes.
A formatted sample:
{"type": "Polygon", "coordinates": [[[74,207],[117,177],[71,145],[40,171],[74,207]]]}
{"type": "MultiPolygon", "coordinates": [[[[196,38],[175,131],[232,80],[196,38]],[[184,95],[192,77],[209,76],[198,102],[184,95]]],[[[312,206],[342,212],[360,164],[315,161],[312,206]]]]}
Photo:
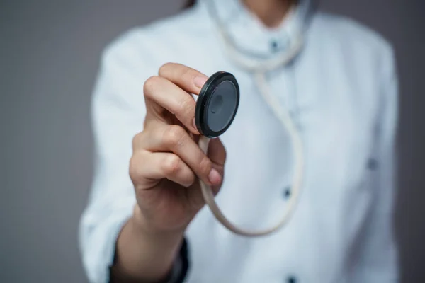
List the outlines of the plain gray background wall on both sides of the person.
{"type": "MultiPolygon", "coordinates": [[[[0,282],[85,282],[77,225],[92,173],[89,102],[102,48],[179,0],[0,0],[0,282]]],[[[322,0],[392,41],[401,77],[397,237],[425,282],[425,3],[322,0]]]]}

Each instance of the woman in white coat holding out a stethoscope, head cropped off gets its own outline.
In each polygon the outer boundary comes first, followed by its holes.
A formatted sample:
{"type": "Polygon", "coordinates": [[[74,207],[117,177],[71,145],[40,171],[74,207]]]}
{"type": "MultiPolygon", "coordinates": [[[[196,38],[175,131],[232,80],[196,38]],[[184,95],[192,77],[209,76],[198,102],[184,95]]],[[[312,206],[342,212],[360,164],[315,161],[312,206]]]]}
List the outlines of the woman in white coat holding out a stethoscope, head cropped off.
{"type": "Polygon", "coordinates": [[[307,0],[199,0],[110,45],[93,102],[96,175],[80,235],[91,282],[397,282],[397,78],[380,35],[307,0]],[[290,62],[261,69],[294,42],[290,62]],[[205,156],[190,93],[220,70],[241,100],[205,156]],[[302,139],[302,192],[284,229],[244,238],[204,207],[197,178],[220,190],[234,223],[278,220],[293,151],[264,85],[302,139]]]}

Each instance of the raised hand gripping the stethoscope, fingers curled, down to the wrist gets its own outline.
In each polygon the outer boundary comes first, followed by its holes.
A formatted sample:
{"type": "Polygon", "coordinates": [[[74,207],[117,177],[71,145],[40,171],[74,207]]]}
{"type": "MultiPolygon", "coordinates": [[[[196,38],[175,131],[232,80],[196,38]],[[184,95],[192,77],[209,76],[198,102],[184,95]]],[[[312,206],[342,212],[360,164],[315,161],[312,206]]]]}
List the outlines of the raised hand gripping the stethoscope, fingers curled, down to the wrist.
{"type": "Polygon", "coordinates": [[[145,127],[133,139],[130,178],[135,187],[135,219],[150,231],[184,231],[204,200],[198,178],[217,193],[226,151],[212,139],[205,156],[198,146],[194,115],[207,76],[168,63],[144,86],[145,127]]]}

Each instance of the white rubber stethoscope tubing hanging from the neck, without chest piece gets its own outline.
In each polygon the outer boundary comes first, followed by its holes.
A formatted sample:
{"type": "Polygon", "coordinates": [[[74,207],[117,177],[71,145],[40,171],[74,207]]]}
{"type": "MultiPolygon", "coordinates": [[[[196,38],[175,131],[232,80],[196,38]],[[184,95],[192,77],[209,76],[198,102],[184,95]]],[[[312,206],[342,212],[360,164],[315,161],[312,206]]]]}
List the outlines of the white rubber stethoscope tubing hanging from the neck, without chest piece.
{"type": "MultiPolygon", "coordinates": [[[[209,2],[209,1],[207,1],[209,2]]],[[[210,6],[213,6],[211,4],[210,6]]],[[[210,11],[215,9],[215,7],[210,7],[210,11]]],[[[217,28],[220,34],[220,38],[223,41],[223,45],[225,46],[225,50],[229,55],[229,58],[232,59],[236,64],[240,67],[246,69],[247,71],[251,71],[254,74],[254,79],[259,88],[259,92],[263,96],[263,99],[266,101],[268,106],[274,112],[276,117],[280,120],[283,127],[287,130],[291,144],[293,146],[294,151],[294,175],[293,175],[293,184],[292,184],[292,192],[290,200],[288,201],[287,207],[283,214],[282,219],[278,221],[278,223],[271,228],[257,231],[248,231],[245,229],[241,229],[234,224],[232,224],[225,216],[222,214],[220,208],[217,206],[215,202],[214,194],[212,193],[211,188],[203,183],[200,180],[200,188],[203,193],[203,198],[205,203],[210,207],[212,214],[214,214],[215,218],[220,221],[220,223],[225,226],[227,229],[232,231],[233,233],[237,233],[242,236],[264,236],[269,233],[273,233],[277,231],[282,226],[284,226],[290,216],[293,214],[295,210],[295,206],[297,204],[297,200],[300,196],[300,190],[302,186],[302,178],[304,172],[304,150],[302,146],[302,139],[300,137],[300,133],[297,131],[297,128],[290,118],[290,115],[287,110],[280,107],[279,101],[276,99],[276,96],[272,96],[270,93],[270,89],[268,88],[268,84],[266,82],[265,73],[266,71],[271,71],[278,67],[283,67],[288,64],[295,56],[300,52],[302,47],[302,37],[297,37],[296,40],[293,41],[293,44],[289,47],[288,52],[280,55],[279,57],[267,60],[257,61],[254,59],[249,59],[248,57],[244,57],[240,52],[232,45],[232,42],[228,40],[228,35],[225,32],[225,29],[220,23],[217,14],[212,15],[212,18],[215,18],[217,21],[217,28]]],[[[203,150],[205,154],[208,151],[208,143],[210,139],[208,137],[201,136],[199,139],[200,149],[203,150]]]]}

